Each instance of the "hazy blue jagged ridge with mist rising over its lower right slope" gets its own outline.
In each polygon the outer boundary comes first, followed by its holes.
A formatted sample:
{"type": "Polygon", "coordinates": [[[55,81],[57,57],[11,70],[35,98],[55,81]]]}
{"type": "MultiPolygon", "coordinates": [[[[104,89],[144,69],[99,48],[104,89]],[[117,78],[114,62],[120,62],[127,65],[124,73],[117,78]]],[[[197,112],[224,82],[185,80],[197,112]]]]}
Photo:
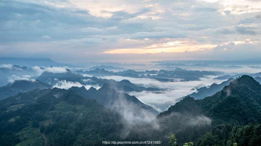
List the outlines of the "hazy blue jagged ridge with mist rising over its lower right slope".
{"type": "Polygon", "coordinates": [[[96,99],[105,108],[117,111],[131,123],[146,124],[159,114],[151,106],[140,102],[135,96],[123,92],[118,93],[107,83],[104,83],[98,90],[93,87],[87,90],[84,86],[70,89],[87,99],[96,99]]]}

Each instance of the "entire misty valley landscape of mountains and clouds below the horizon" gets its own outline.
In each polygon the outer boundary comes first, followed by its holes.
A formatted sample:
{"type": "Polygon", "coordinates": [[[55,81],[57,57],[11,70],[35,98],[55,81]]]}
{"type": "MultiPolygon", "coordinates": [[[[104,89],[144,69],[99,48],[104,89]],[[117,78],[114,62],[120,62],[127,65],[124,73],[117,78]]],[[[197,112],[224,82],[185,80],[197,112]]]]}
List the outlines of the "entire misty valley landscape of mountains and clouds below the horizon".
{"type": "Polygon", "coordinates": [[[97,68],[92,74],[41,68],[35,79],[0,87],[1,145],[169,145],[171,134],[179,145],[260,141],[258,73],[227,80],[220,79],[224,72],[180,68],[116,73],[97,68]]]}

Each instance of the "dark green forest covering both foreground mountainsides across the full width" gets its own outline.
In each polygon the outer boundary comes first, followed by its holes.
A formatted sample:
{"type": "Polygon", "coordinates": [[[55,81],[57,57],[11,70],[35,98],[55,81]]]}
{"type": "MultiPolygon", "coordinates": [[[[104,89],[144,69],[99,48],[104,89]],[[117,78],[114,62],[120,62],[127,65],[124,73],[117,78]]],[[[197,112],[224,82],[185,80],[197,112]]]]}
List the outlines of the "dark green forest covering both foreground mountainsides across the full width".
{"type": "Polygon", "coordinates": [[[145,125],[130,124],[92,98],[53,88],[0,100],[0,145],[170,145],[172,134],[179,145],[261,145],[261,85],[251,76],[243,75],[204,99],[187,96],[145,125]]]}

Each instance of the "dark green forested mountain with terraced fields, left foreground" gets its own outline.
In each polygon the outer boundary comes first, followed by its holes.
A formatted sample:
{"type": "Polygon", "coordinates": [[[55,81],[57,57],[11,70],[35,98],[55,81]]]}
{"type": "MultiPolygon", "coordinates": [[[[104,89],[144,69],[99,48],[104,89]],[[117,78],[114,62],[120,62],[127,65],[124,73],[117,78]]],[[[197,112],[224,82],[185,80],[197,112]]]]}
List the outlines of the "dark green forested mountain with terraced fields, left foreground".
{"type": "Polygon", "coordinates": [[[122,117],[65,89],[35,89],[0,100],[0,145],[99,145],[114,140],[122,117]],[[41,126],[40,126],[41,125],[41,126]],[[40,127],[40,128],[39,128],[40,127]]]}

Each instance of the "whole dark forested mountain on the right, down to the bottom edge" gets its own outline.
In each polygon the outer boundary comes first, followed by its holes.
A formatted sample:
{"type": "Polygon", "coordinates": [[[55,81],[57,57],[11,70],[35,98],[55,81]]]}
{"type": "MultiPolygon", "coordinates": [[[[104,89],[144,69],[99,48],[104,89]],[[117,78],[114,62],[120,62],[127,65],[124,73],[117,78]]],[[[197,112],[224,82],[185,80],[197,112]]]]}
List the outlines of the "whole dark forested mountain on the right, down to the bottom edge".
{"type": "Polygon", "coordinates": [[[185,97],[148,125],[134,127],[126,139],[161,139],[168,145],[169,139],[164,136],[175,133],[181,145],[260,145],[260,101],[261,85],[243,75],[212,96],[200,100],[185,97]]]}

